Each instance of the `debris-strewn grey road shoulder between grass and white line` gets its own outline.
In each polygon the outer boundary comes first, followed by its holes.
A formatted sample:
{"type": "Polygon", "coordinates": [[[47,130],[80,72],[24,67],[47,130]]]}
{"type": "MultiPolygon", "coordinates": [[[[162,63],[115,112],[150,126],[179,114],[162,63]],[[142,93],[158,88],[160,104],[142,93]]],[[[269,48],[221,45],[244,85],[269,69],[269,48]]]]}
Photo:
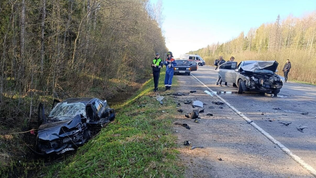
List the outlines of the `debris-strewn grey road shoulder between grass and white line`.
{"type": "Polygon", "coordinates": [[[192,76],[176,77],[180,83],[176,92],[197,91],[174,98],[181,104],[178,109],[184,110],[177,120],[191,126],[188,130],[174,125],[185,177],[313,177],[228,106],[223,105],[220,109],[220,105],[212,104],[212,101],[220,100],[204,92],[207,89],[192,76]],[[183,103],[186,100],[199,100],[206,105],[193,108],[191,104],[183,103]],[[215,109],[210,109],[210,106],[215,109]],[[195,109],[205,110],[199,114],[199,123],[185,117],[195,109]],[[208,113],[214,116],[203,115],[208,113]],[[191,142],[191,146],[183,145],[186,140],[191,142]],[[205,148],[191,150],[192,146],[201,145],[205,148]]]}

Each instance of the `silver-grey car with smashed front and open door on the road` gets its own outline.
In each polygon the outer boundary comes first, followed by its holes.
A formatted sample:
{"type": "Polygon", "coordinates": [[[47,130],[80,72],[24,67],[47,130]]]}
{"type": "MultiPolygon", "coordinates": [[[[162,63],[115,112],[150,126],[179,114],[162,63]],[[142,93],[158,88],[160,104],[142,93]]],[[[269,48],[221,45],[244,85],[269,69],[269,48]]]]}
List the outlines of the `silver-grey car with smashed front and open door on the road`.
{"type": "Polygon", "coordinates": [[[275,96],[283,86],[283,77],[275,74],[278,62],[246,60],[237,62],[226,62],[217,69],[223,82],[233,83],[237,86],[238,93],[260,92],[271,93],[275,96]]]}

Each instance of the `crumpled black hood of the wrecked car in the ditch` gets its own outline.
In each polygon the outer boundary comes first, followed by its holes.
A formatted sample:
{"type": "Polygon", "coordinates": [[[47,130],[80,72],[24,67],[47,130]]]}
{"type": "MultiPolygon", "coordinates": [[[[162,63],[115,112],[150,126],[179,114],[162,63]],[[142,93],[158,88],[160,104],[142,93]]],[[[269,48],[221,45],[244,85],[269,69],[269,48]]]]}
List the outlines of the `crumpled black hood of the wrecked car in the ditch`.
{"type": "Polygon", "coordinates": [[[75,128],[79,123],[81,123],[80,114],[76,115],[72,119],[51,121],[40,125],[38,136],[42,140],[55,140],[59,138],[60,134],[64,134],[64,132],[67,132],[67,130],[75,128]]]}

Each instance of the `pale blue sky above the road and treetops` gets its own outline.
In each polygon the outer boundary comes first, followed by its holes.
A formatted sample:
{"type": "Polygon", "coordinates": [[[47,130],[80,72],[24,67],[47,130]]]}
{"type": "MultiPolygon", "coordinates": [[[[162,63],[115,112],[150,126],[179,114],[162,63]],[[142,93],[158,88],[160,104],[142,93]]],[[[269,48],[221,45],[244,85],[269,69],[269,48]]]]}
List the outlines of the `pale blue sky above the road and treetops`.
{"type": "MultiPolygon", "coordinates": [[[[157,0],[150,0],[156,3],[157,0]]],[[[212,43],[245,35],[263,23],[302,17],[316,10],[316,0],[162,0],[162,32],[175,58],[212,43]]]]}

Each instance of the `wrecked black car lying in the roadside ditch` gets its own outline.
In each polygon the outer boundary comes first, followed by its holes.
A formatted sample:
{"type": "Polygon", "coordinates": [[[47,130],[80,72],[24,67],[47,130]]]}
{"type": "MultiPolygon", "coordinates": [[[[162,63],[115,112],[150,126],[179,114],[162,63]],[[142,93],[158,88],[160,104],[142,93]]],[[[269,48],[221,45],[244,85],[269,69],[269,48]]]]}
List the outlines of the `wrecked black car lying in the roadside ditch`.
{"type": "Polygon", "coordinates": [[[63,102],[55,99],[47,117],[42,104],[38,111],[39,129],[34,151],[42,156],[77,149],[115,118],[115,111],[106,100],[97,98],[71,98],[63,102]]]}

